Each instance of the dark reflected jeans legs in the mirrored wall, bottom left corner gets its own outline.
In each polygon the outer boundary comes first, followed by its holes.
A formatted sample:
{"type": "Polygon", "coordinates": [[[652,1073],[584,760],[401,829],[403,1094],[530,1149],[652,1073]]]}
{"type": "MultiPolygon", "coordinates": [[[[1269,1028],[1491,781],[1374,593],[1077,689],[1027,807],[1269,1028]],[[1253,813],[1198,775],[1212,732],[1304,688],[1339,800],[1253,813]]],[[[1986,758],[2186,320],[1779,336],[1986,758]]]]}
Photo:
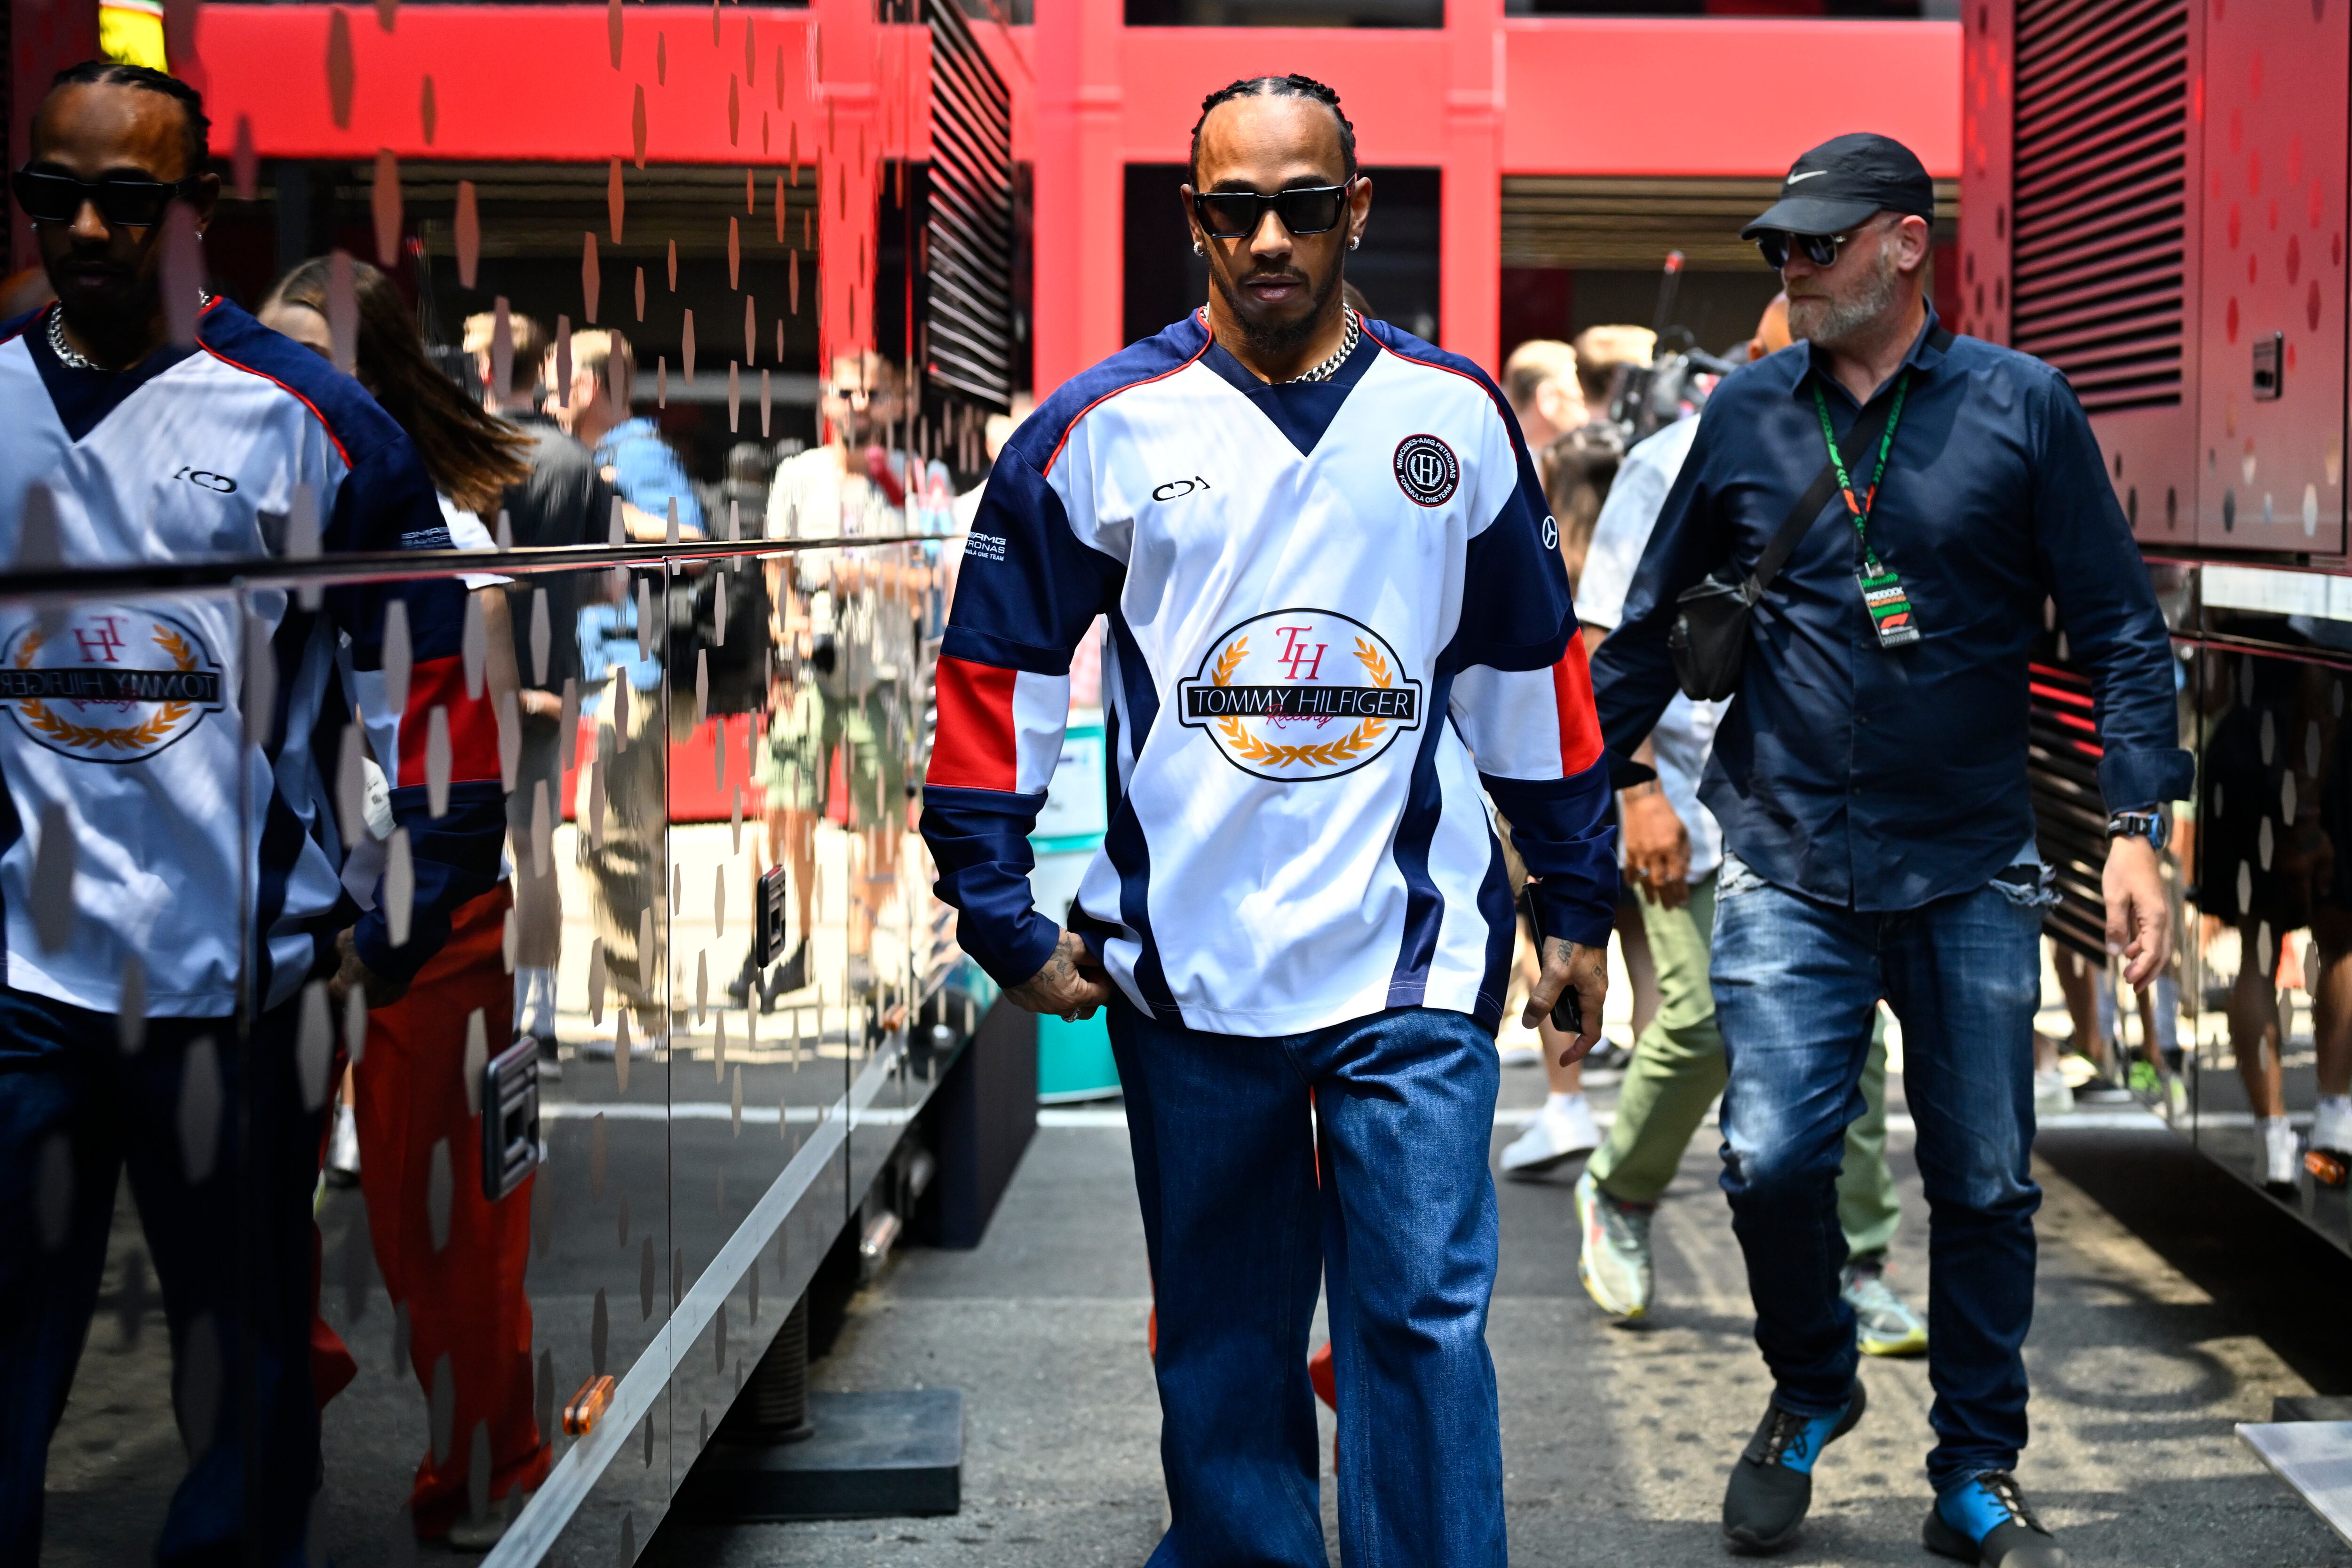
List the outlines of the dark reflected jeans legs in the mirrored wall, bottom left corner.
{"type": "Polygon", "coordinates": [[[301,1100],[294,1020],[292,1004],[263,1013],[240,1044],[233,1018],[148,1018],[127,1056],[115,1018],[0,992],[0,1563],[40,1559],[49,1434],[89,1338],[125,1171],[191,1450],[155,1561],[306,1561],[322,1112],[301,1100]],[[191,1060],[207,1063],[193,1086],[191,1060]]]}

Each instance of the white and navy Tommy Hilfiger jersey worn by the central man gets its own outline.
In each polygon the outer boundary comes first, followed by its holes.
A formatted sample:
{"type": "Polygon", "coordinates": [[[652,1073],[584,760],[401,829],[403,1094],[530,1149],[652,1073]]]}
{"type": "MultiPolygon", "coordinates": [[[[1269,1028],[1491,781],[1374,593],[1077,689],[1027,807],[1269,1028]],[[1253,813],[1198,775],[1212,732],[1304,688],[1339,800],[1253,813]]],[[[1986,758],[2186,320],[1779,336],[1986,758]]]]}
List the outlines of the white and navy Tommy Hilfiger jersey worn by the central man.
{"type": "Polygon", "coordinates": [[[1200,315],[1007,442],[938,661],[922,830],[964,950],[1030,978],[1028,830],[1096,614],[1110,832],[1073,929],[1155,1018],[1289,1034],[1395,1006],[1494,1025],[1512,903],[1602,943],[1606,773],[1557,527],[1494,383],[1381,322],[1265,386],[1200,315]]]}

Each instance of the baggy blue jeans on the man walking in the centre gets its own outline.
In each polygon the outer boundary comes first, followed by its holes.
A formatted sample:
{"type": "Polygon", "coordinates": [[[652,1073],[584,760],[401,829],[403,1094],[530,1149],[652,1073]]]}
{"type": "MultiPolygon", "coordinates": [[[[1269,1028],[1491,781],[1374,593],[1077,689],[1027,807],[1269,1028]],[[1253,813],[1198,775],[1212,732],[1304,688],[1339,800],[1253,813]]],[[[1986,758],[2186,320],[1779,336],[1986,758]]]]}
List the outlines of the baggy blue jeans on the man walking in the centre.
{"type": "Polygon", "coordinates": [[[1308,1387],[1317,1281],[1338,1382],[1341,1556],[1501,1566],[1494,1034],[1435,1009],[1204,1034],[1117,999],[1110,1041],[1160,1312],[1174,1519],[1152,1568],[1329,1561],[1308,1387]]]}

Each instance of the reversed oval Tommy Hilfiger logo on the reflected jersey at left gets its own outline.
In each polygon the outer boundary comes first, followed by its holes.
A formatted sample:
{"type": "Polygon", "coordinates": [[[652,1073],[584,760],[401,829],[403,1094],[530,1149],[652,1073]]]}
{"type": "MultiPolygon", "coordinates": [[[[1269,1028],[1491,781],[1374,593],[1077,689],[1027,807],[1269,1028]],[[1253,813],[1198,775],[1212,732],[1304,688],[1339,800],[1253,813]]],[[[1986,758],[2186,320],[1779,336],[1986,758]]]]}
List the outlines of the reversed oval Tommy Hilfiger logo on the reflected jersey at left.
{"type": "Polygon", "coordinates": [[[143,762],[221,712],[221,663],[176,616],[85,604],[0,642],[0,708],[52,752],[143,762]]]}

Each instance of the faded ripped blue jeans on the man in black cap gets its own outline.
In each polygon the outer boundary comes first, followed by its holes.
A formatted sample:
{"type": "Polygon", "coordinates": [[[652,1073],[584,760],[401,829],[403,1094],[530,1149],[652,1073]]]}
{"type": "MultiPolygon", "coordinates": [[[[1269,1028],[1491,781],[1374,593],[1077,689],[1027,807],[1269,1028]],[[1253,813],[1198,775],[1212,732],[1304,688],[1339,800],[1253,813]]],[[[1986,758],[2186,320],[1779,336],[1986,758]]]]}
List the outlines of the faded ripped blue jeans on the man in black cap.
{"type": "Polygon", "coordinates": [[[2039,889],[1997,879],[1872,914],[1729,863],[1712,983],[1731,1065],[1724,1192],[1773,1401],[1828,1415],[1853,1387],[1837,1166],[1846,1124],[1863,1114],[1870,1018],[1884,997],[1903,1020],[1903,1093],[1929,1201],[1929,1481],[1943,1490],[2011,1469],[2025,1446],[2020,1347],[2042,1206],[2030,1171],[2039,889]]]}

